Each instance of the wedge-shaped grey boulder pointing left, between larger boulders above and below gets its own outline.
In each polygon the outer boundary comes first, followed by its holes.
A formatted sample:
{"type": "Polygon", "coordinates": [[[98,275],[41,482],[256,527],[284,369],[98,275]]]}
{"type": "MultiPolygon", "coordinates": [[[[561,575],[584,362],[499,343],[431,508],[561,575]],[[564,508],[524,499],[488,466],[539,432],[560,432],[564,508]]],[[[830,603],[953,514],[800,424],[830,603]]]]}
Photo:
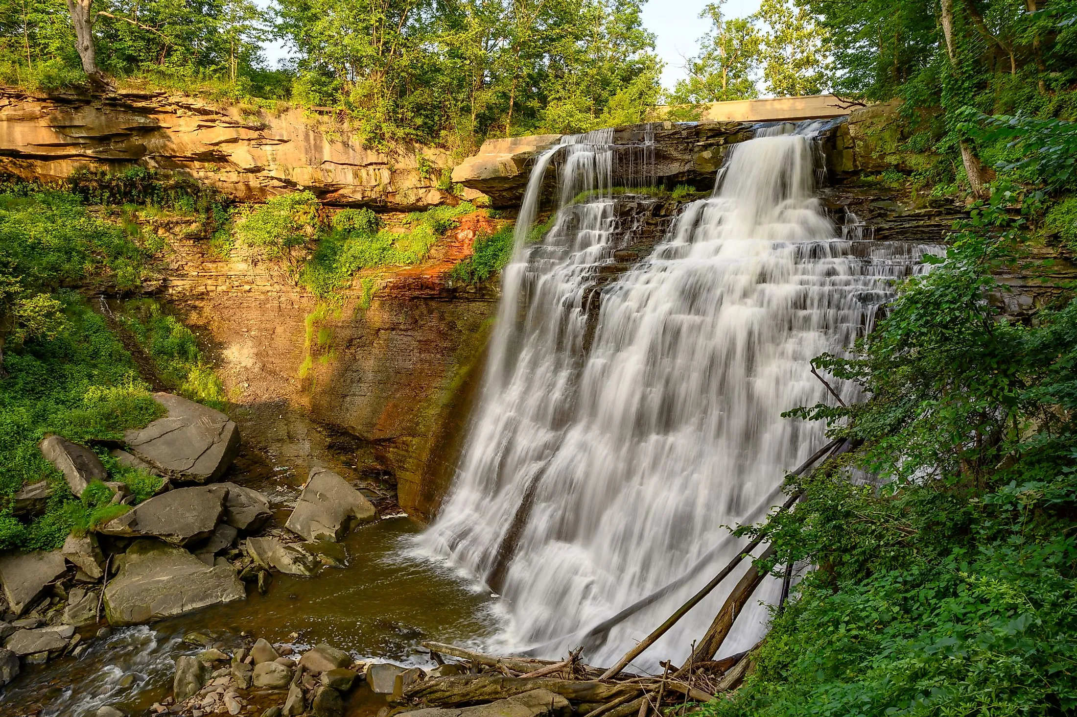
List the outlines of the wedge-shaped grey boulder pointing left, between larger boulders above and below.
{"type": "Polygon", "coordinates": [[[227,497],[228,488],[218,484],[177,488],[150,498],[109,521],[98,532],[125,537],[153,536],[174,546],[186,546],[213,535],[227,497]]]}

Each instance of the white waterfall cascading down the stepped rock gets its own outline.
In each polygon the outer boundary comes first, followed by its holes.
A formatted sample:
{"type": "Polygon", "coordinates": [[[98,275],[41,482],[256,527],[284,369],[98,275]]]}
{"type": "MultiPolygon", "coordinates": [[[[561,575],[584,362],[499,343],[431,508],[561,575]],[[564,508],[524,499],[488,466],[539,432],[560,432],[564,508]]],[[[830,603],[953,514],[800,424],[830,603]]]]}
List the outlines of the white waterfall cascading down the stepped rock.
{"type": "MultiPolygon", "coordinates": [[[[709,557],[587,654],[615,661],[736,554],[726,526],[763,518],[823,443],[821,426],[780,414],[828,399],[810,359],[850,345],[924,247],[838,238],[814,196],[813,140],[788,129],[735,146],[714,195],[600,289],[591,322],[596,277],[614,262],[602,190],[616,148],[592,134],[540,158],[459,473],[423,538],[503,595],[500,647],[563,656],[709,557]],[[555,156],[557,220],[526,246],[555,156]],[[597,192],[572,203],[585,189],[597,192]]],[[[633,666],[684,659],[739,576],[633,666]]],[[[757,595],[775,593],[769,581],[757,595]]],[[[745,609],[719,657],[757,639],[765,617],[745,609]]]]}

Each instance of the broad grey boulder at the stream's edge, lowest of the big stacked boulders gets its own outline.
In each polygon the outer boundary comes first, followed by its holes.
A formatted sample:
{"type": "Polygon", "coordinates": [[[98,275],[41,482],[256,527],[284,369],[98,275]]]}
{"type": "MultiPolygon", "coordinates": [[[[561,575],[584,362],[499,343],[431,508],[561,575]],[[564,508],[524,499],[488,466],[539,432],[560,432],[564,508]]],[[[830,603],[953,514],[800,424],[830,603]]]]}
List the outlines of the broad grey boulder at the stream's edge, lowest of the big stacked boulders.
{"type": "Polygon", "coordinates": [[[104,589],[104,613],[113,625],[129,625],[246,596],[235,568],[209,567],[182,548],[137,540],[104,589]]]}

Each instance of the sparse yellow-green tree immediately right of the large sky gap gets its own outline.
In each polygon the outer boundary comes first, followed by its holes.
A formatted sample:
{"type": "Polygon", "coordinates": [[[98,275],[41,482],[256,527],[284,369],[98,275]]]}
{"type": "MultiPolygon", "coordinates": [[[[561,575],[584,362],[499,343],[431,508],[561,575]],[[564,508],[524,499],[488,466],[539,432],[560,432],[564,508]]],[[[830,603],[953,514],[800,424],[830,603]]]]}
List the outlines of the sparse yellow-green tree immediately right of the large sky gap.
{"type": "Polygon", "coordinates": [[[688,60],[688,78],[670,95],[674,105],[697,105],[758,97],[753,74],[760,63],[763,36],[751,18],[726,19],[712,2],[699,14],[711,20],[711,31],[699,39],[700,52],[688,60]]]}

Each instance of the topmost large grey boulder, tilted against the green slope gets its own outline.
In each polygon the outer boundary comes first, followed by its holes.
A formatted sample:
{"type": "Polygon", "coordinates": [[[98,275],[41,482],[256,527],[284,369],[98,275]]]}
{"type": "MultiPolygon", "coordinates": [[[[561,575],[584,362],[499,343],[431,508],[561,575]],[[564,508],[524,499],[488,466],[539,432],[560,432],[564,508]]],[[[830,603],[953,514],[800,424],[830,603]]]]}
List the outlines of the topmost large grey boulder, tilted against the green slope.
{"type": "Polygon", "coordinates": [[[239,453],[239,429],[220,411],[171,394],[154,394],[168,411],[124,441],[138,458],[180,481],[205,483],[224,474],[239,453]]]}

